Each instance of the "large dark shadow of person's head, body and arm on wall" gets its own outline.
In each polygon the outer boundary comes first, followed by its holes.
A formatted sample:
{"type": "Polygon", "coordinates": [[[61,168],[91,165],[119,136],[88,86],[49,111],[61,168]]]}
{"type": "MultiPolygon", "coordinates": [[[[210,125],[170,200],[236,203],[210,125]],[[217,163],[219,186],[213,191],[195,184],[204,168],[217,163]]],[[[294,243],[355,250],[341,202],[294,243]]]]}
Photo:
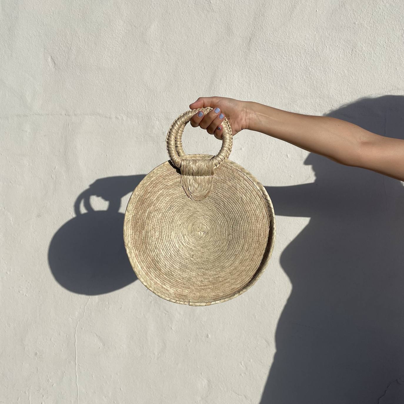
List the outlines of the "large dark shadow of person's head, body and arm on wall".
{"type": "MultiPolygon", "coordinates": [[[[327,116],[402,139],[403,111],[384,96],[327,116]]],[[[402,402],[397,383],[384,393],[404,375],[402,183],[313,153],[304,164],[313,184],[267,187],[275,215],[310,220],[280,254],[292,290],[261,404],[402,402]]]]}

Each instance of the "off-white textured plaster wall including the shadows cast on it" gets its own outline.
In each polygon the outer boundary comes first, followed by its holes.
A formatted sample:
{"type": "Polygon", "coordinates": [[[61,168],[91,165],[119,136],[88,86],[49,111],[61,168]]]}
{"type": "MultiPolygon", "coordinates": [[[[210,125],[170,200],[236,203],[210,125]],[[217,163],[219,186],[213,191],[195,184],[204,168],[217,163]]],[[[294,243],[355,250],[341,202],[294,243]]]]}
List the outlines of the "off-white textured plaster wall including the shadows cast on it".
{"type": "MultiPolygon", "coordinates": [[[[239,133],[230,158],[267,186],[278,233],[257,284],[211,307],[149,292],[122,241],[130,192],[199,96],[402,138],[402,15],[380,0],[2,0],[0,402],[402,402],[400,181],[239,133]]],[[[190,153],[219,146],[187,126],[190,153]]]]}

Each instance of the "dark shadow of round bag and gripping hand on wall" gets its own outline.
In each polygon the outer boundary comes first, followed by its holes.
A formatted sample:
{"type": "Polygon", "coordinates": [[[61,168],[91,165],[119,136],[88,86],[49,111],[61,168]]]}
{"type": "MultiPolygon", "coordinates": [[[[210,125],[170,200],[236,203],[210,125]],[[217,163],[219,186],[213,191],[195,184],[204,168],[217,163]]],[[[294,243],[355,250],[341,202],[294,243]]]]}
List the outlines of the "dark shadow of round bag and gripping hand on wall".
{"type": "Polygon", "coordinates": [[[101,295],[123,288],[137,278],[123,241],[121,199],[132,192],[144,175],[97,179],[74,203],[76,217],[53,236],[48,263],[53,276],[67,290],[101,295]],[[90,196],[108,201],[107,210],[94,210],[90,196]],[[86,213],[80,212],[83,204],[86,213]]]}

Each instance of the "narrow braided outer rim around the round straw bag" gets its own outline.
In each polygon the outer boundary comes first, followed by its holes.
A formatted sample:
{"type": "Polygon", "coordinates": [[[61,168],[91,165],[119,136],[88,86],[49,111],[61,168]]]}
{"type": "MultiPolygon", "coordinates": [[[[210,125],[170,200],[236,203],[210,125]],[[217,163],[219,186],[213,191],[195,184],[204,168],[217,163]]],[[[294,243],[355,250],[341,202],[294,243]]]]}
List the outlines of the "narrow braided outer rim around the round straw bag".
{"type": "MultiPolygon", "coordinates": [[[[210,155],[210,154],[188,154],[188,155],[185,155],[183,157],[184,158],[203,158],[203,159],[208,159],[208,158],[212,158],[212,155],[210,155]]],[[[130,240],[129,226],[128,226],[129,225],[129,220],[130,220],[130,216],[129,216],[129,213],[128,213],[129,206],[133,203],[133,201],[135,200],[135,198],[137,197],[139,192],[141,192],[143,186],[145,185],[145,183],[147,183],[147,181],[150,179],[150,177],[158,174],[167,164],[170,164],[173,167],[173,169],[178,170],[173,165],[171,160],[168,160],[168,161],[165,161],[165,162],[159,164],[157,167],[155,167],[153,170],[151,170],[147,175],[145,175],[145,177],[142,179],[142,181],[140,181],[140,183],[137,185],[137,187],[133,190],[132,194],[130,195],[130,198],[128,200],[128,204],[126,205],[125,215],[124,215],[124,226],[123,226],[124,245],[125,245],[126,254],[128,255],[130,265],[132,266],[132,269],[135,272],[137,278],[141,281],[141,283],[144,286],[146,286],[146,288],[148,290],[153,292],[158,297],[161,297],[162,299],[170,301],[170,302],[173,302],[173,303],[179,303],[179,304],[184,304],[184,305],[189,305],[189,306],[210,306],[210,305],[213,305],[213,304],[223,303],[225,301],[229,301],[231,299],[234,299],[234,298],[238,297],[239,295],[242,295],[244,292],[246,292],[248,289],[250,289],[251,286],[253,286],[257,282],[257,280],[261,277],[261,275],[265,271],[269,259],[271,259],[272,252],[274,250],[275,237],[276,237],[276,223],[275,223],[274,206],[272,204],[271,198],[269,197],[265,187],[248,170],[246,170],[240,164],[238,164],[238,163],[236,163],[234,161],[231,161],[229,159],[225,159],[222,164],[228,164],[228,165],[236,168],[238,171],[245,174],[246,177],[248,177],[248,179],[250,179],[250,181],[252,181],[252,183],[255,185],[255,187],[259,191],[261,191],[261,194],[262,194],[263,198],[265,199],[265,202],[267,203],[267,208],[268,208],[268,213],[269,213],[269,228],[270,228],[270,231],[268,233],[268,241],[269,242],[267,242],[267,246],[265,248],[263,259],[261,260],[261,263],[260,263],[259,267],[257,268],[257,271],[255,272],[255,275],[252,277],[252,279],[242,289],[238,290],[237,292],[234,292],[234,293],[232,293],[231,295],[228,295],[228,296],[224,296],[223,298],[217,299],[215,301],[205,301],[205,302],[191,301],[191,300],[181,301],[181,300],[172,299],[171,297],[160,293],[158,290],[156,290],[153,287],[153,285],[149,284],[141,276],[139,271],[137,271],[137,267],[139,267],[140,265],[139,265],[137,259],[135,258],[134,250],[133,250],[133,248],[131,248],[130,243],[129,243],[129,240],[130,240]]]]}

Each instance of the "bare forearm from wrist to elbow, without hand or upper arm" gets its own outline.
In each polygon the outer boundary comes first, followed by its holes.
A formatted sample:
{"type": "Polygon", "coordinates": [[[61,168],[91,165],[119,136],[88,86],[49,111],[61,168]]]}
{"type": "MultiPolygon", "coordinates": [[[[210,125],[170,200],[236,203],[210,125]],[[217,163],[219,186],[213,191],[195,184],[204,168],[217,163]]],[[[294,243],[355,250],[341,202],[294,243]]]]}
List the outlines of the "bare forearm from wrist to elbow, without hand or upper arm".
{"type": "Polygon", "coordinates": [[[295,114],[254,101],[247,102],[247,110],[247,129],[348,166],[362,166],[362,146],[379,136],[337,118],[295,114]]]}

